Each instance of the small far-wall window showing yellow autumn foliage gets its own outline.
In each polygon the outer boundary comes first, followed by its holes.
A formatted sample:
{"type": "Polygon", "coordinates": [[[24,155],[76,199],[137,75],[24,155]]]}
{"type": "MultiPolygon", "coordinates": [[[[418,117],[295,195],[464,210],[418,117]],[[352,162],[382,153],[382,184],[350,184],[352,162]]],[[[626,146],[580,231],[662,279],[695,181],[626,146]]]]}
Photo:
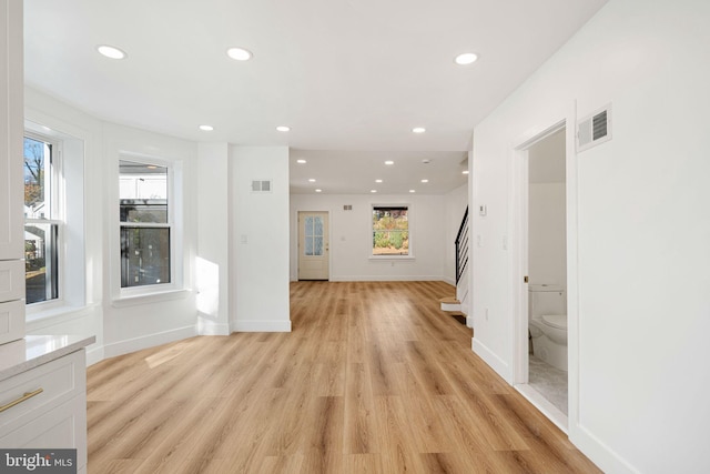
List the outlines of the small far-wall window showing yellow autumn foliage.
{"type": "Polygon", "coordinates": [[[409,208],[373,206],[373,255],[409,255],[409,208]]]}

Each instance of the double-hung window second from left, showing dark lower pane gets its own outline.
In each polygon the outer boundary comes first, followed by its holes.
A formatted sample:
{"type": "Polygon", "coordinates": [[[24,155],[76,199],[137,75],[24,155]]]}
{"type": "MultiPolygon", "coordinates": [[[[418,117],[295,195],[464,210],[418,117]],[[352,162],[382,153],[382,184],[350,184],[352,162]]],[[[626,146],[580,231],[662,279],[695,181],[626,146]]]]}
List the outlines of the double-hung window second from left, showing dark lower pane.
{"type": "Polygon", "coordinates": [[[171,283],[169,168],[120,161],[121,288],[171,283]]]}

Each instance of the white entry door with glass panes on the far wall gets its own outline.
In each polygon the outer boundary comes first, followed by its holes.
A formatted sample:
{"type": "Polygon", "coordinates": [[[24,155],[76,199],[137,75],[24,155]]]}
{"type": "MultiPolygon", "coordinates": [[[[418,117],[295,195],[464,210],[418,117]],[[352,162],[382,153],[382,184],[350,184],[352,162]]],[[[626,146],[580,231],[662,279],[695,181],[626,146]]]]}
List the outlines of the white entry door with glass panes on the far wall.
{"type": "Polygon", "coordinates": [[[298,212],[298,280],[328,280],[328,213],[298,212]]]}

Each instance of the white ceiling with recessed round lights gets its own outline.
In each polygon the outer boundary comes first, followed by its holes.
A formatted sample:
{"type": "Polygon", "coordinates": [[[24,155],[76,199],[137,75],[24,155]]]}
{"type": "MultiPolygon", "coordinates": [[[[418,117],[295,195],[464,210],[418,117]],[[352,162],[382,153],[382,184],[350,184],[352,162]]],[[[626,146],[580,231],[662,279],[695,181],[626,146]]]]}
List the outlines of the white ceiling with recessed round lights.
{"type": "Polygon", "coordinates": [[[302,180],[316,165],[315,178],[332,183],[324,192],[369,192],[377,173],[367,169],[388,155],[400,175],[381,192],[428,174],[420,192],[442,193],[465,183],[474,125],[605,2],[24,0],[26,81],[126,125],[292,147],[310,158],[306,174],[292,164],[293,192],[313,192],[302,180]],[[99,56],[104,43],[128,59],[99,56]],[[227,58],[233,46],[254,58],[227,58]],[[468,51],[476,63],[453,62],[468,51]],[[200,131],[204,123],[215,130],[200,131]]]}

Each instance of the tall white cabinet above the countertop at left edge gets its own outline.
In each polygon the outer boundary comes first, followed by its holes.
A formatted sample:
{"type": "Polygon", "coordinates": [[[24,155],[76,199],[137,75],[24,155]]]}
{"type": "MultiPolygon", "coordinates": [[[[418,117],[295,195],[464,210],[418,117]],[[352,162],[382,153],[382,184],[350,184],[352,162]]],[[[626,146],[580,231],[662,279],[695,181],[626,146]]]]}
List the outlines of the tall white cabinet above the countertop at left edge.
{"type": "Polygon", "coordinates": [[[24,335],[22,2],[0,0],[0,344],[24,335]],[[21,307],[20,307],[21,306],[21,307]]]}

